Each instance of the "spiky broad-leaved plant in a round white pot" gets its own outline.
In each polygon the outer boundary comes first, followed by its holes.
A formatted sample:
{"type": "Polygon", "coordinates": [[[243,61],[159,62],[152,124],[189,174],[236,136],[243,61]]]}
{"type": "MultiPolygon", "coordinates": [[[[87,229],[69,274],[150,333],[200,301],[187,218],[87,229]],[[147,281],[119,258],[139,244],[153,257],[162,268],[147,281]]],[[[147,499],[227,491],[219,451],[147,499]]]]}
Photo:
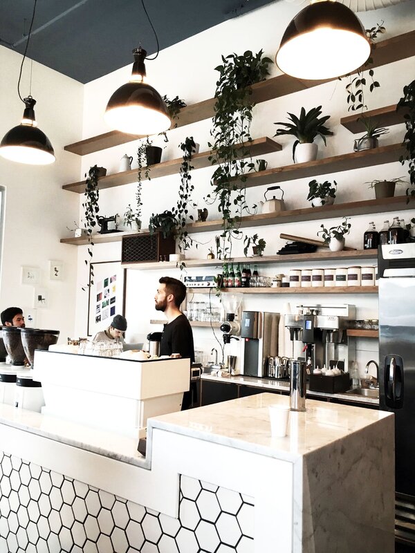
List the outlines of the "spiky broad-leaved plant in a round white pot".
{"type": "Polygon", "coordinates": [[[291,119],[292,123],[274,123],[284,126],[284,129],[277,129],[274,136],[292,135],[297,139],[293,144],[293,161],[295,163],[315,160],[317,158],[315,138],[320,136],[326,144],[326,136],[333,136],[333,132],[324,125],[330,119],[330,115],[320,117],[321,114],[322,106],[312,108],[308,112],[302,107],[299,117],[288,113],[288,119],[291,119]]]}

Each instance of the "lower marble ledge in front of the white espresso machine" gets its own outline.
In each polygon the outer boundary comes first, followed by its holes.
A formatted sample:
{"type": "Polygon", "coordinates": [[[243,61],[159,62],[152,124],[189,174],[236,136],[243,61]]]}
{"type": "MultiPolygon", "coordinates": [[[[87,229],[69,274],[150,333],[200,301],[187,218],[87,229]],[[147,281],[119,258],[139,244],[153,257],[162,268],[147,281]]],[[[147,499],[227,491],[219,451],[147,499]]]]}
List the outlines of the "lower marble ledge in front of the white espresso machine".
{"type": "Polygon", "coordinates": [[[129,438],[27,409],[0,404],[0,424],[37,434],[129,465],[149,468],[149,460],[137,451],[137,438],[129,438]]]}

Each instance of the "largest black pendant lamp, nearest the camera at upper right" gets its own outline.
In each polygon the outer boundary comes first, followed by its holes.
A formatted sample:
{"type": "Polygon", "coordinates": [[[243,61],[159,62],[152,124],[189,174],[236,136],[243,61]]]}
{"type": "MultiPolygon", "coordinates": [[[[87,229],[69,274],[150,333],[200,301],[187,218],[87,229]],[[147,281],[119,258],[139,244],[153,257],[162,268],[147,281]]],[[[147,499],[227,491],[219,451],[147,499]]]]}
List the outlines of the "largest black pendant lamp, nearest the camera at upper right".
{"type": "Polygon", "coordinates": [[[360,20],[332,0],[311,3],[286,28],[275,61],[298,79],[331,79],[355,71],[370,55],[360,20]]]}

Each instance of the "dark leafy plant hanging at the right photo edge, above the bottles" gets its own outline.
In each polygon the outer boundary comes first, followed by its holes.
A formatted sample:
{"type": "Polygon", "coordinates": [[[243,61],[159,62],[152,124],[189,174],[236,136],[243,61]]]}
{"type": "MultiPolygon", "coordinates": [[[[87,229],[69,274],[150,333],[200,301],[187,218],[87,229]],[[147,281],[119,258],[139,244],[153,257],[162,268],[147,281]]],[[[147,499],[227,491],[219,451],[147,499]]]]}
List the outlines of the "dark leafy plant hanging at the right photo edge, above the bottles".
{"type": "MultiPolygon", "coordinates": [[[[399,161],[402,165],[405,161],[409,162],[409,182],[412,187],[415,185],[415,80],[403,87],[403,97],[400,98],[396,109],[405,109],[406,133],[403,138],[403,146],[405,146],[405,156],[400,156],[399,161]]],[[[407,188],[406,194],[415,198],[415,189],[407,188]]]]}

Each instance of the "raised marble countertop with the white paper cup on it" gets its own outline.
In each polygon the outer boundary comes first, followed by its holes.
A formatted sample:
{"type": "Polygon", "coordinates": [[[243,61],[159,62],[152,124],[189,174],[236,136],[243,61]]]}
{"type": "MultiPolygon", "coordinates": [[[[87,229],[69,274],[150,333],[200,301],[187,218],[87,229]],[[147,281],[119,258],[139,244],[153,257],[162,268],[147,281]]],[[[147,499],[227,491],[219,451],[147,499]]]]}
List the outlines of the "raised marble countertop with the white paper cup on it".
{"type": "Polygon", "coordinates": [[[291,411],[288,434],[273,438],[268,415],[270,404],[288,405],[289,397],[262,393],[171,413],[149,419],[147,432],[163,429],[293,462],[393,416],[385,411],[307,400],[305,413],[291,411]]]}

